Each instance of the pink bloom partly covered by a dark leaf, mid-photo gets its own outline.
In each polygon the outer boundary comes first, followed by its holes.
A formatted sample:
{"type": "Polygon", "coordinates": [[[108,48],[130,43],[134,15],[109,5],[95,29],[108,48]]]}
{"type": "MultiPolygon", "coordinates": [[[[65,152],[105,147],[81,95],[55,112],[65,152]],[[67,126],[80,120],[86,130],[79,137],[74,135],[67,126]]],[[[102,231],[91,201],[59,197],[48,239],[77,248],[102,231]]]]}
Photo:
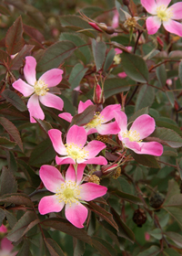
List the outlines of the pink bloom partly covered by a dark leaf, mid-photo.
{"type": "MultiPolygon", "coordinates": [[[[78,105],[78,113],[84,112],[88,106],[94,105],[92,101],[88,100],[86,102],[80,101],[78,105]]],[[[120,104],[108,105],[101,112],[96,112],[94,118],[86,123],[84,128],[86,133],[99,133],[101,135],[106,134],[117,134],[119,132],[119,127],[115,122],[110,122],[114,117],[114,112],[121,109],[120,104]]],[[[65,119],[67,122],[71,123],[73,116],[69,112],[63,112],[59,114],[60,118],[65,119]]]]}

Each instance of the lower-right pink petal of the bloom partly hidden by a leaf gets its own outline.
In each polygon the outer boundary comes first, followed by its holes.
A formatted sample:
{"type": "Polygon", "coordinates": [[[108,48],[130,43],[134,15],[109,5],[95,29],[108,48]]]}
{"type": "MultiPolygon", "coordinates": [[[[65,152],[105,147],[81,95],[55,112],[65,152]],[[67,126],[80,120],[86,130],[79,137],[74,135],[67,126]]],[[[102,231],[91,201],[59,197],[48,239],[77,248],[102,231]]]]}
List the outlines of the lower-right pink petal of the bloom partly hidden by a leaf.
{"type": "Polygon", "coordinates": [[[117,134],[120,132],[120,128],[116,122],[101,124],[96,127],[96,130],[101,135],[117,134]]]}

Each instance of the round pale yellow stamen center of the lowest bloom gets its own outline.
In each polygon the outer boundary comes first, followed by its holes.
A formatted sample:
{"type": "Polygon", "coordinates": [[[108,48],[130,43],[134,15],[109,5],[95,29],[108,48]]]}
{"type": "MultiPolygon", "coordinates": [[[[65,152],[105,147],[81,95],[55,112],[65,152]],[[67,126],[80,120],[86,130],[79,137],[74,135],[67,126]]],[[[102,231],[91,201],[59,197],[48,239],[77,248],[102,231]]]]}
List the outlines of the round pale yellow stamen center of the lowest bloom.
{"type": "Polygon", "coordinates": [[[73,181],[66,181],[65,183],[61,184],[61,187],[56,189],[56,196],[61,203],[64,201],[66,204],[68,203],[70,206],[72,203],[76,203],[77,200],[80,199],[80,188],[76,185],[76,182],[73,181]]]}

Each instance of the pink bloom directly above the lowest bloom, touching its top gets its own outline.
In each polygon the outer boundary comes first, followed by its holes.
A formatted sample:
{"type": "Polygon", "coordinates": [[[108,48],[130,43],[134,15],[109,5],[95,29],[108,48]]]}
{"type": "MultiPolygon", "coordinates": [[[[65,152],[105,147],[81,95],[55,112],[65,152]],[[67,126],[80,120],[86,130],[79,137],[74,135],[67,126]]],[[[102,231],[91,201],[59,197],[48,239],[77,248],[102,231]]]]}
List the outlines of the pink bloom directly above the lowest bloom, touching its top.
{"type": "Polygon", "coordinates": [[[106,144],[99,141],[91,141],[86,144],[87,135],[84,127],[73,125],[66,135],[66,144],[63,144],[62,133],[59,130],[51,129],[48,134],[56,153],[63,155],[61,157],[56,156],[57,165],[107,164],[105,157],[101,155],[96,157],[101,150],[106,148],[106,144]]]}

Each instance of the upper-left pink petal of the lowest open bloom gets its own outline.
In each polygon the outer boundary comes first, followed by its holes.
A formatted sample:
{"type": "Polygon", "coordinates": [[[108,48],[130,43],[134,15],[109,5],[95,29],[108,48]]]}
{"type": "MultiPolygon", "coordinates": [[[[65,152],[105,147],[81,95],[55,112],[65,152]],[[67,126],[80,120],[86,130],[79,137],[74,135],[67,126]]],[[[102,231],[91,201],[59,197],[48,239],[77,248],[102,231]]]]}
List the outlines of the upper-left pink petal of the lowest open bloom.
{"type": "Polygon", "coordinates": [[[42,179],[47,190],[56,193],[56,189],[61,187],[65,180],[55,166],[42,165],[39,171],[39,176],[42,179]]]}

